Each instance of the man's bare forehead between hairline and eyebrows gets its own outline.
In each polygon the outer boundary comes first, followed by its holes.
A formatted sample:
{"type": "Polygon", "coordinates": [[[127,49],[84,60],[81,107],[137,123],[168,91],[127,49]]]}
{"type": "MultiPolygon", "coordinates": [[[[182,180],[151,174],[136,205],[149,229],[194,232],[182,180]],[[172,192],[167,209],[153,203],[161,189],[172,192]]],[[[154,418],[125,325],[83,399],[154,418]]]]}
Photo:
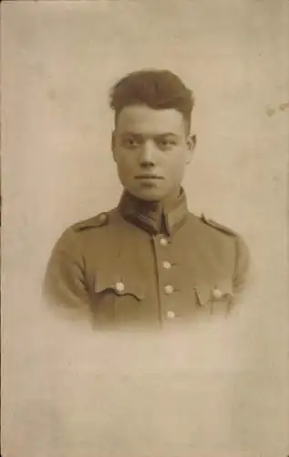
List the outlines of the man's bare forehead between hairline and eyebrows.
{"type": "Polygon", "coordinates": [[[184,133],[184,119],[174,109],[154,110],[146,105],[131,105],[119,112],[118,133],[161,134],[184,133]]]}

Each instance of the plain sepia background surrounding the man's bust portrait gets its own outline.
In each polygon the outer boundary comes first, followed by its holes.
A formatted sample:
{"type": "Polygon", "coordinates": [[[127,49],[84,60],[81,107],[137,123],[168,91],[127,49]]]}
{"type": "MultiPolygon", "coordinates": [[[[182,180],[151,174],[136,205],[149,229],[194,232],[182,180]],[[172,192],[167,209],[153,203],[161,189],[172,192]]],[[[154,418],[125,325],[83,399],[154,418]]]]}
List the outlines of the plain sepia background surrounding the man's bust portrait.
{"type": "Polygon", "coordinates": [[[289,452],[288,5],[3,3],[5,457],[289,452]],[[242,233],[253,256],[232,319],[189,334],[93,333],[40,298],[60,233],[118,202],[108,90],[141,68],[194,90],[191,211],[242,233]]]}

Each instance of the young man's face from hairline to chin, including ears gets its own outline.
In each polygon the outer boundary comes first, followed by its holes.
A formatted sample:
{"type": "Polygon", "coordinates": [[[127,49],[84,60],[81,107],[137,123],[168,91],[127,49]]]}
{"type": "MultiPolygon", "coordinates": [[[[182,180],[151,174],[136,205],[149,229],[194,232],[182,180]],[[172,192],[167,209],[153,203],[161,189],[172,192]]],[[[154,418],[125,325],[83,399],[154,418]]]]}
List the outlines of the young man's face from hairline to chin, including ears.
{"type": "Polygon", "coordinates": [[[180,188],[194,143],[181,112],[133,105],[119,112],[112,151],[121,184],[135,197],[162,200],[180,188]]]}

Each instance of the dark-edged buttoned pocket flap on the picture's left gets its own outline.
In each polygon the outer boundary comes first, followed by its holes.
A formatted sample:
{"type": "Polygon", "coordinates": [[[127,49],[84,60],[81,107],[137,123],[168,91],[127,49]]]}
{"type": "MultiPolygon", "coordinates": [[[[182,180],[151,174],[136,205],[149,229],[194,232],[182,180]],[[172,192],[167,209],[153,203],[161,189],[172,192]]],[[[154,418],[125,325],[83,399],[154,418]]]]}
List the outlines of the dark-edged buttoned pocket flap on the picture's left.
{"type": "Polygon", "coordinates": [[[108,290],[118,296],[133,295],[138,300],[143,300],[145,297],[143,284],[135,278],[128,274],[99,270],[95,279],[95,292],[99,293],[108,290]]]}

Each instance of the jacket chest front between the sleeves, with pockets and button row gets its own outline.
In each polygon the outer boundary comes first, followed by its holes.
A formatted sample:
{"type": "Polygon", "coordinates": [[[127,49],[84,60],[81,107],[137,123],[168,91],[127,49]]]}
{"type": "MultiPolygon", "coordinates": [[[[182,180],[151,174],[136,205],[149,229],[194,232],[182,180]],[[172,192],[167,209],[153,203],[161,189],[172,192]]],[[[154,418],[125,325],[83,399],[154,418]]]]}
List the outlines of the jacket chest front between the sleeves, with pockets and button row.
{"type": "Polygon", "coordinates": [[[171,325],[226,314],[232,304],[230,252],[192,237],[188,227],[171,237],[112,229],[85,257],[96,324],[171,325]]]}

